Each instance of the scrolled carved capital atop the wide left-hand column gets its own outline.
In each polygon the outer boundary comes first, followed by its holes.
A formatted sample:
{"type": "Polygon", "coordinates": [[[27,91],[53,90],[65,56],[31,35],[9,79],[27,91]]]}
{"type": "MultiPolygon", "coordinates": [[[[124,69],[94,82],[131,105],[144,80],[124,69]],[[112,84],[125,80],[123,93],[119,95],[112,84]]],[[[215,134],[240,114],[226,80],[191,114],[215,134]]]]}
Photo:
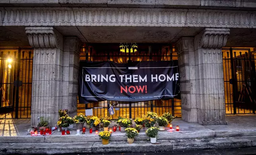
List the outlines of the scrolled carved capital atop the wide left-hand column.
{"type": "Polygon", "coordinates": [[[35,48],[58,48],[63,50],[62,35],[53,27],[26,27],[29,44],[35,48]]]}

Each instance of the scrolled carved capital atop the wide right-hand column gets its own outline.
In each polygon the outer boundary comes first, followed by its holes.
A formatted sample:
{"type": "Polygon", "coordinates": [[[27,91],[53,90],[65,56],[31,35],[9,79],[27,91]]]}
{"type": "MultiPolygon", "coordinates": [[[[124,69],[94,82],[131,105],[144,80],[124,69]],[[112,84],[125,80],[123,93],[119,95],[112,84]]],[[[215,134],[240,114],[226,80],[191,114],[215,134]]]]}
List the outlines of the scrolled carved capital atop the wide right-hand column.
{"type": "Polygon", "coordinates": [[[204,28],[195,36],[194,48],[221,48],[226,45],[229,28],[204,28]]]}

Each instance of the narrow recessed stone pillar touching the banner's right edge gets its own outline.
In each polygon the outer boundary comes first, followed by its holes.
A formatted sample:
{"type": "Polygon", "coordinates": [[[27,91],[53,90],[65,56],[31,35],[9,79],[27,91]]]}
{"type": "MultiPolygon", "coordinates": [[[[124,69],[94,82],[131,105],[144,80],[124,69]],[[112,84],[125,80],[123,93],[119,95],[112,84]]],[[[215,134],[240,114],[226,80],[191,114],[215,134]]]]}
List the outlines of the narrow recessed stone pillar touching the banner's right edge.
{"type": "Polygon", "coordinates": [[[187,122],[198,123],[194,37],[182,37],[176,42],[180,70],[181,115],[187,122]]]}

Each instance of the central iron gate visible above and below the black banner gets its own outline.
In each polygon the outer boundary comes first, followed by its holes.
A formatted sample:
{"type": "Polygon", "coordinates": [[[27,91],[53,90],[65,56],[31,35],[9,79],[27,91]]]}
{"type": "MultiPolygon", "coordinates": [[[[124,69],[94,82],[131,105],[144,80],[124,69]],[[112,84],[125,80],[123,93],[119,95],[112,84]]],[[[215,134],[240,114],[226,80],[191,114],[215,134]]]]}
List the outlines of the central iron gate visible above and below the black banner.
{"type": "MultiPolygon", "coordinates": [[[[163,44],[90,44],[81,48],[81,61],[113,61],[128,63],[129,61],[164,61],[176,60],[177,53],[172,45],[163,44]]],[[[108,109],[117,102],[105,100],[102,102],[83,104],[78,101],[78,113],[85,112],[87,108],[93,108],[93,115],[98,117],[109,116],[108,109]]],[[[175,117],[181,117],[181,102],[179,99],[152,100],[146,102],[118,102],[112,119],[118,117],[136,118],[142,117],[148,111],[159,115],[170,112],[175,117]]]]}

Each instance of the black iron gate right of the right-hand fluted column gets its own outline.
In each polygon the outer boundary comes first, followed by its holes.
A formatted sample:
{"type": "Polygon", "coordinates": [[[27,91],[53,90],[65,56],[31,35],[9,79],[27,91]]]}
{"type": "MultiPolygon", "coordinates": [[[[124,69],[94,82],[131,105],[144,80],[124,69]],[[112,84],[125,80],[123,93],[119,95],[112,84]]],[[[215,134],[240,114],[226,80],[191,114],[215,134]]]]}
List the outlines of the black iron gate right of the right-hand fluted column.
{"type": "Polygon", "coordinates": [[[252,48],[222,51],[226,114],[255,114],[256,52],[252,48]]]}

